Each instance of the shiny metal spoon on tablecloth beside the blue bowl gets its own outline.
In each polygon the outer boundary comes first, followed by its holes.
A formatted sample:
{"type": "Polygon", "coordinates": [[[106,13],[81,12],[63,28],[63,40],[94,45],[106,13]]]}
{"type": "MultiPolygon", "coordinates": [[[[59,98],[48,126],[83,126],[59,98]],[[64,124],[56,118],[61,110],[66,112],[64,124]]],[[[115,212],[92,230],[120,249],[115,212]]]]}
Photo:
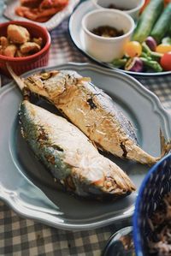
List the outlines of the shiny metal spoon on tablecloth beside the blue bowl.
{"type": "Polygon", "coordinates": [[[118,230],[110,236],[102,256],[135,256],[133,246],[133,227],[118,230]]]}

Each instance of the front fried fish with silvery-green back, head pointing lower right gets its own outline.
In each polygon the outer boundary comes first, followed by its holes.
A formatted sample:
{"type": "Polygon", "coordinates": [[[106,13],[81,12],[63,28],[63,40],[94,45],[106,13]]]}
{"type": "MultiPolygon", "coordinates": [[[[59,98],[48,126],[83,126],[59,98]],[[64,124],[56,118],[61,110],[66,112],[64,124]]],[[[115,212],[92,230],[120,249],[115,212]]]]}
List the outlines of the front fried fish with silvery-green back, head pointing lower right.
{"type": "Polygon", "coordinates": [[[68,191],[85,198],[117,199],[135,190],[127,174],[65,118],[24,100],[20,121],[32,151],[68,191]]]}

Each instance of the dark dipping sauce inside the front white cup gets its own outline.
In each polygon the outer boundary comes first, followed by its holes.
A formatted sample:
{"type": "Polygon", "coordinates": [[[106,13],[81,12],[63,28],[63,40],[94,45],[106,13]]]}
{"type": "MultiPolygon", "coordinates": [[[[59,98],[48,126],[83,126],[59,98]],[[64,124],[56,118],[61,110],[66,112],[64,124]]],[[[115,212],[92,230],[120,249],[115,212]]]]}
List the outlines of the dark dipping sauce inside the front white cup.
{"type": "Polygon", "coordinates": [[[110,26],[101,26],[101,27],[93,28],[91,30],[91,33],[94,33],[97,36],[104,37],[104,38],[116,38],[124,34],[123,30],[118,30],[115,27],[110,27],[110,26]]]}

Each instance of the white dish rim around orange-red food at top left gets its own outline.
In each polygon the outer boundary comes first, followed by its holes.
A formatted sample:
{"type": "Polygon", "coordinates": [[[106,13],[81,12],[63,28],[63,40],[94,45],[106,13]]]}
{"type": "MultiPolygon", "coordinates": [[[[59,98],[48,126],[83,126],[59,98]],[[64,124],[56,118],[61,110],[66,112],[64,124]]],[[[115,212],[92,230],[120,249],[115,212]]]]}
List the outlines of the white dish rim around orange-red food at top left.
{"type": "Polygon", "coordinates": [[[27,18],[15,15],[16,7],[20,6],[20,0],[9,0],[7,2],[6,8],[4,8],[3,15],[12,21],[30,21],[38,24],[39,26],[46,27],[47,30],[52,30],[57,27],[65,18],[70,15],[75,6],[80,2],[80,0],[69,0],[68,6],[62,11],[58,12],[56,15],[52,16],[49,21],[46,22],[35,22],[28,20],[27,18]]]}

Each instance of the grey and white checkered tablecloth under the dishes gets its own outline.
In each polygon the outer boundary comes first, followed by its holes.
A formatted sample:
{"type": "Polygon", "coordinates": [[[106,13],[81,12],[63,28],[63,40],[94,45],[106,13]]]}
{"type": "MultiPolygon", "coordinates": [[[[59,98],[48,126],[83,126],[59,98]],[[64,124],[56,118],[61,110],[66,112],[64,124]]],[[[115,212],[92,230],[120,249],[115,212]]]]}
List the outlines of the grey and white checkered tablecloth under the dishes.
{"type": "MultiPolygon", "coordinates": [[[[50,66],[68,62],[90,62],[72,43],[68,33],[68,20],[63,21],[50,35],[50,66]]],[[[171,75],[139,77],[138,80],[160,98],[171,114],[171,75]]],[[[130,221],[82,232],[54,229],[19,217],[0,201],[0,255],[100,255],[109,236],[126,225],[130,225],[130,221]]]]}

